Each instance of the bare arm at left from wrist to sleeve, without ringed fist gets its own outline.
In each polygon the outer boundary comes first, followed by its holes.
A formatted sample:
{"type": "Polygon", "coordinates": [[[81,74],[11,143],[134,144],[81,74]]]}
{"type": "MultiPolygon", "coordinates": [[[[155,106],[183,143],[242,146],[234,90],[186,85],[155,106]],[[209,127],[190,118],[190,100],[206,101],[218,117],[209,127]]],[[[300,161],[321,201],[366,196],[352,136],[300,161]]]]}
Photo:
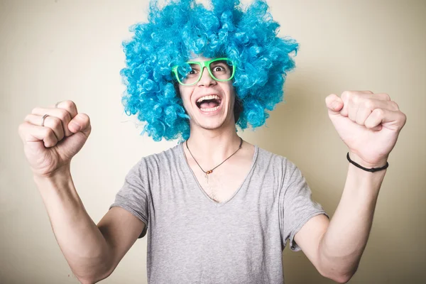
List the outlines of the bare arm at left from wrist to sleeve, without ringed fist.
{"type": "Polygon", "coordinates": [[[68,170],[50,177],[34,175],[34,180],[72,272],[82,283],[107,278],[145,224],[125,209],[113,207],[98,227],[84,209],[68,170]]]}

